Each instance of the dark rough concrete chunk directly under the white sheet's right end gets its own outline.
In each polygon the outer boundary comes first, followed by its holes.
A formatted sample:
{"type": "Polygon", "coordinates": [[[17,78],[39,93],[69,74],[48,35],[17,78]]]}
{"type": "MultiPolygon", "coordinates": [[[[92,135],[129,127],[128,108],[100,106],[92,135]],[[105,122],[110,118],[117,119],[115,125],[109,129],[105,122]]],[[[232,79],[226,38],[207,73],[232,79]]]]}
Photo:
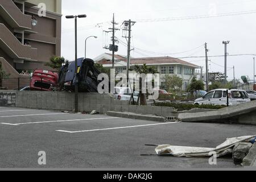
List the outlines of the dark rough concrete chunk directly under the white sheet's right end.
{"type": "Polygon", "coordinates": [[[245,156],[249,153],[251,146],[250,142],[239,142],[233,148],[234,164],[241,164],[245,156]]]}

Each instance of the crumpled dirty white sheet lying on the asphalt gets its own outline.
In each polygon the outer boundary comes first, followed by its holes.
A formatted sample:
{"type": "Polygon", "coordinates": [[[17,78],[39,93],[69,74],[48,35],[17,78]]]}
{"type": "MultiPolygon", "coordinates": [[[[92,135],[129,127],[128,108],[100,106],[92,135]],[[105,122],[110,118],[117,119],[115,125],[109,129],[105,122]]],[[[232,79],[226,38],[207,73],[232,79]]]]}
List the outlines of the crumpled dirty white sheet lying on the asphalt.
{"type": "Polygon", "coordinates": [[[250,142],[254,136],[244,136],[227,138],[226,141],[216,148],[205,147],[184,147],[184,146],[171,146],[170,144],[159,145],[155,148],[157,155],[171,155],[176,157],[210,157],[213,152],[217,158],[220,156],[232,154],[234,146],[240,142],[250,142]]]}

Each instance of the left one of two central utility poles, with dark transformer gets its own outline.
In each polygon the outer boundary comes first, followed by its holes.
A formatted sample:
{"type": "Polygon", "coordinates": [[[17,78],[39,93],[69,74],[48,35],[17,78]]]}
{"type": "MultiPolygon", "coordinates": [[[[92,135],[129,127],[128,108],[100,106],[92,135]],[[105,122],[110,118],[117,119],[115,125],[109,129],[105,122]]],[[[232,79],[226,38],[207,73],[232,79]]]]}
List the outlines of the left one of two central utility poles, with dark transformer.
{"type": "Polygon", "coordinates": [[[113,24],[112,28],[109,28],[109,30],[111,31],[104,31],[104,32],[112,32],[112,44],[109,45],[109,47],[104,47],[105,49],[109,49],[109,51],[112,51],[112,69],[114,69],[115,67],[115,52],[118,51],[118,46],[115,45],[115,42],[117,42],[117,40],[115,39],[115,31],[119,30],[118,28],[115,28],[115,25],[118,23],[115,23],[115,15],[113,13],[113,21],[111,22],[113,24]]]}

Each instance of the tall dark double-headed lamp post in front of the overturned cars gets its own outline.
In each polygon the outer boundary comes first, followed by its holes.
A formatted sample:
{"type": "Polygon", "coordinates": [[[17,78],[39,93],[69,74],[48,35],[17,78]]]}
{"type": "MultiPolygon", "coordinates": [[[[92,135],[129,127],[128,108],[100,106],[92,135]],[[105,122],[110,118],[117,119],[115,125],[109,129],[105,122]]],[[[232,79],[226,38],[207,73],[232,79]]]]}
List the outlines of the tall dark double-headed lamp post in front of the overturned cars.
{"type": "MultiPolygon", "coordinates": [[[[75,18],[75,77],[77,80],[77,17],[78,18],[86,18],[86,15],[68,15],[67,19],[75,18]]],[[[78,112],[78,81],[75,83],[75,113],[78,112]]]]}

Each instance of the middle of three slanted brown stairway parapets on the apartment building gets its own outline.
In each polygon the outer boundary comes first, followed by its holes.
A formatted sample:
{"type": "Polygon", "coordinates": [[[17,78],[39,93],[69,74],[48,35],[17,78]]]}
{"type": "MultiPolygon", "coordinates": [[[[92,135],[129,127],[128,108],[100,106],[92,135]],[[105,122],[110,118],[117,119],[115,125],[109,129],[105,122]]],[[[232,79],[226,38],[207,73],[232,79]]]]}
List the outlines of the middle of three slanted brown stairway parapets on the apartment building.
{"type": "Polygon", "coordinates": [[[0,23],[0,47],[13,59],[37,60],[38,49],[25,46],[0,23]]]}

